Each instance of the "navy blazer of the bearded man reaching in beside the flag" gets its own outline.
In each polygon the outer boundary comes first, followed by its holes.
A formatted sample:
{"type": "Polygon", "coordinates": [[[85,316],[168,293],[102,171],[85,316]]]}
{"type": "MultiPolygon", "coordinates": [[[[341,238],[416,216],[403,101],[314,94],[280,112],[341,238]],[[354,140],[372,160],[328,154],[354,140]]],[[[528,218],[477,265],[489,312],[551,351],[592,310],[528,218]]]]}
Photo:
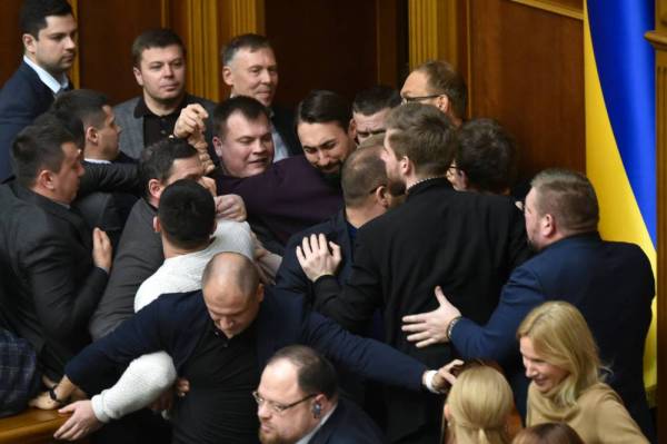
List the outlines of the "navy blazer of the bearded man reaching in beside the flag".
{"type": "MultiPolygon", "coordinates": [[[[481,327],[462,318],[451,342],[465,358],[495,359],[522,372],[519,324],[545,300],[567,300],[581,310],[603,364],[611,368],[608,383],[650,436],[643,359],[654,295],[650,263],[638,246],[604,241],[597,233],[571,236],[516,268],[488,323],[481,327]]],[[[528,381],[521,379],[527,387],[528,381]]]]}

